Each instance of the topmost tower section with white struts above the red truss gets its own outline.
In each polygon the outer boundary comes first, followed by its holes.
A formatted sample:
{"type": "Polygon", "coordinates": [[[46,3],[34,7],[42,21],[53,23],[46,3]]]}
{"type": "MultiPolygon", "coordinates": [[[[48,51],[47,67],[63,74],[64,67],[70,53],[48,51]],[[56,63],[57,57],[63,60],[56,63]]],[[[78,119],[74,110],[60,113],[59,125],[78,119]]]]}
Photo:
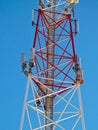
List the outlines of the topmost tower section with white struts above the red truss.
{"type": "Polygon", "coordinates": [[[74,17],[74,5],[79,3],[79,0],[39,0],[39,9],[51,10],[65,14],[72,14],[74,17]]]}

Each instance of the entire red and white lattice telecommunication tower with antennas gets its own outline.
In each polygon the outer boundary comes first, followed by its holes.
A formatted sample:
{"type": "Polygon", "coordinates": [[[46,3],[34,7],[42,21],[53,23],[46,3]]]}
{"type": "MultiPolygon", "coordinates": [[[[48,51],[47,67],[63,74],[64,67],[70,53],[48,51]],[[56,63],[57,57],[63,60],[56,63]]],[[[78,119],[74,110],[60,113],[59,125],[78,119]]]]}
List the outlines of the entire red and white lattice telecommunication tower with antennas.
{"type": "Polygon", "coordinates": [[[38,9],[32,10],[35,34],[30,59],[21,55],[28,80],[20,130],[86,130],[80,92],[84,80],[74,44],[76,3],[39,0],[38,9]]]}

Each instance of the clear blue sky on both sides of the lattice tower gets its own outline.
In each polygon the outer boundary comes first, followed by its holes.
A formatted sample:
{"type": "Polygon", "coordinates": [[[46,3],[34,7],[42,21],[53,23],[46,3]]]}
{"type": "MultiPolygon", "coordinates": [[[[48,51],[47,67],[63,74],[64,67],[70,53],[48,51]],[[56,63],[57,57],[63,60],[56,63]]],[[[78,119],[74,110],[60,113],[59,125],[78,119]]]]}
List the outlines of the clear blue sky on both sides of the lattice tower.
{"type": "MultiPolygon", "coordinates": [[[[19,130],[26,77],[20,54],[33,42],[32,8],[38,0],[0,0],[0,130],[19,130]]],[[[86,130],[98,130],[98,1],[80,0],[76,51],[82,59],[81,86],[86,130]]]]}

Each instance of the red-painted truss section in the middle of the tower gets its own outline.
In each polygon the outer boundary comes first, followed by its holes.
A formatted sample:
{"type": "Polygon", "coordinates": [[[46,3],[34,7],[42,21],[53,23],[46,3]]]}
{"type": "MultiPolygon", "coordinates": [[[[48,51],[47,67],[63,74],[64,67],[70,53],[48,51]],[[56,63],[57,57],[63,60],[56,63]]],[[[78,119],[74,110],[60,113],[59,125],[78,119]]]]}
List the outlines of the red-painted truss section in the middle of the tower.
{"type": "MultiPolygon", "coordinates": [[[[33,75],[39,77],[39,80],[45,84],[48,72],[54,73],[53,79],[60,79],[62,82],[53,84],[55,89],[62,89],[64,86],[69,86],[70,83],[64,84],[64,81],[76,82],[76,74],[74,72],[74,65],[76,63],[76,54],[74,48],[74,28],[71,20],[71,15],[66,15],[51,11],[38,11],[38,20],[36,32],[34,37],[33,48],[35,49],[33,75]],[[57,15],[55,19],[51,18],[51,14],[57,15]],[[51,20],[51,22],[49,22],[51,20]],[[48,29],[55,25],[54,38],[48,36],[48,29]],[[47,44],[50,42],[51,44],[47,44]],[[53,52],[47,52],[48,49],[54,47],[53,52]],[[54,63],[50,63],[47,57],[54,59],[54,63]],[[47,67],[50,65],[50,68],[47,67]]],[[[51,80],[51,79],[50,79],[51,80]]],[[[49,86],[49,84],[47,84],[49,86]]]]}

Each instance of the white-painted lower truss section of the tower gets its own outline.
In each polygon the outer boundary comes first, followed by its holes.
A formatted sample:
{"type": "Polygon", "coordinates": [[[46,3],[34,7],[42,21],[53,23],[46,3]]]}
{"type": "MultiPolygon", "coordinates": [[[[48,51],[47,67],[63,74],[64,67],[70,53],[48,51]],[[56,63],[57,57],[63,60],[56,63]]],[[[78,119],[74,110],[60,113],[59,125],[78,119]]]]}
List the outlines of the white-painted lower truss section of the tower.
{"type": "MultiPolygon", "coordinates": [[[[79,100],[77,98],[78,94],[80,95],[79,86],[70,85],[63,90],[55,92],[50,90],[51,94],[40,96],[35,81],[40,83],[45,89],[47,88],[37,77],[31,74],[28,75],[20,130],[44,130],[46,126],[51,124],[53,124],[53,130],[85,130],[81,97],[79,97],[79,100]],[[62,93],[63,91],[65,93],[62,93]],[[44,100],[50,95],[54,96],[54,119],[51,124],[45,125],[44,119],[49,118],[45,117],[44,100]],[[39,106],[37,104],[38,101],[40,101],[39,106]]],[[[55,82],[62,81],[58,80],[55,82]]]]}

